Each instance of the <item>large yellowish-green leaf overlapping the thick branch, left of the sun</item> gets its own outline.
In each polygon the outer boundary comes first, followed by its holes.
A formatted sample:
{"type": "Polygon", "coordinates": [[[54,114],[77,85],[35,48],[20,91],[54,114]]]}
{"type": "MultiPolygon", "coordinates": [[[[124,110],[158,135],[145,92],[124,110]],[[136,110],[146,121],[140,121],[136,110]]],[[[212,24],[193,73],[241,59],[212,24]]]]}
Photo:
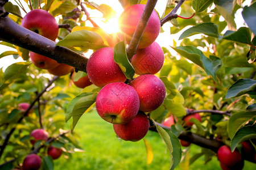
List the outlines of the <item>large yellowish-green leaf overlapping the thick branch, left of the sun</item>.
{"type": "Polygon", "coordinates": [[[100,35],[93,31],[80,30],[69,33],[63,40],[57,42],[58,46],[79,47],[82,50],[100,49],[106,47],[100,35]]]}

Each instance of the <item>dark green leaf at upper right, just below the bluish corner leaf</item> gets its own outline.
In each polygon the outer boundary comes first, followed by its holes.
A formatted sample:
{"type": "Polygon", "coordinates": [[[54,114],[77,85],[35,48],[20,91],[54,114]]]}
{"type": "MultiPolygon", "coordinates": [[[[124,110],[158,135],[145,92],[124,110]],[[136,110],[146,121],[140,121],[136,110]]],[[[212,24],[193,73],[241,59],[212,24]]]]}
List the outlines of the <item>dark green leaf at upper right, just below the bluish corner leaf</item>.
{"type": "Polygon", "coordinates": [[[225,32],[224,36],[221,39],[252,45],[251,32],[250,29],[247,27],[241,27],[237,31],[228,30],[225,32]]]}

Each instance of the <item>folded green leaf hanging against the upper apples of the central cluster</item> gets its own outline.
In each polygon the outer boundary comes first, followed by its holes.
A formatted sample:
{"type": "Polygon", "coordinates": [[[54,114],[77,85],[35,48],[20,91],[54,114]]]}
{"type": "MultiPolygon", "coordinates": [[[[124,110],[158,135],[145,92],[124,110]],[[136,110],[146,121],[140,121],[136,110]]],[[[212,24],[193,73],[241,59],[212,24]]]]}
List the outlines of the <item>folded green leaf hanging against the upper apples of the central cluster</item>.
{"type": "Polygon", "coordinates": [[[135,70],[126,56],[125,42],[118,42],[114,46],[114,60],[119,65],[127,79],[133,78],[135,70]]]}

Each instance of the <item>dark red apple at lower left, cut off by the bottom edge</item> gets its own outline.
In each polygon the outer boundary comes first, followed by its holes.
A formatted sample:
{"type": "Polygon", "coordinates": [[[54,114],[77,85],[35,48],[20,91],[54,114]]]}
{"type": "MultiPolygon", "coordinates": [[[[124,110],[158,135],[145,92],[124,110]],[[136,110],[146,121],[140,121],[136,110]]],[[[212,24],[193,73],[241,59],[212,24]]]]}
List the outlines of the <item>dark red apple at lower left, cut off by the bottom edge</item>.
{"type": "Polygon", "coordinates": [[[22,169],[23,170],[37,170],[40,168],[42,160],[40,156],[36,154],[27,155],[23,160],[22,169]]]}

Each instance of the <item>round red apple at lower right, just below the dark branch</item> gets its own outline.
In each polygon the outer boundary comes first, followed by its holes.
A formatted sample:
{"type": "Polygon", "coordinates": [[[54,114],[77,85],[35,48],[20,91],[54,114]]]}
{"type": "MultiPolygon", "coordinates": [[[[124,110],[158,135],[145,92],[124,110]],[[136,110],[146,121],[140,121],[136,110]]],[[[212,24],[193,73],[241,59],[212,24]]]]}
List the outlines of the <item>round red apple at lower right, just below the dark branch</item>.
{"type": "Polygon", "coordinates": [[[226,167],[234,167],[238,162],[242,161],[242,155],[238,150],[232,152],[229,146],[223,145],[218,148],[218,160],[226,165],[226,167]]]}

